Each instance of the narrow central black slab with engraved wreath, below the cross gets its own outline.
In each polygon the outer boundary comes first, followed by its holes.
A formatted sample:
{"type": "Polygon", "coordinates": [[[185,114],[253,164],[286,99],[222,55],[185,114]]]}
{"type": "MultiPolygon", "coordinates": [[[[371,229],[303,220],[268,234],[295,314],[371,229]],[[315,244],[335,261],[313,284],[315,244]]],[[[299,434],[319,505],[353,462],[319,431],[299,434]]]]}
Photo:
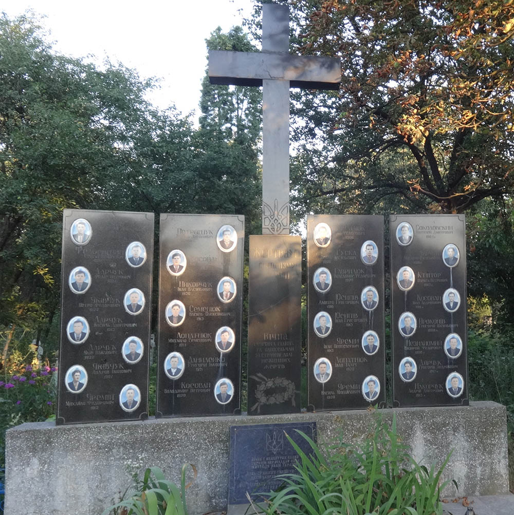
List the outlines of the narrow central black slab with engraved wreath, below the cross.
{"type": "Polygon", "coordinates": [[[248,415],[300,411],[300,236],[250,236],[248,415]]]}

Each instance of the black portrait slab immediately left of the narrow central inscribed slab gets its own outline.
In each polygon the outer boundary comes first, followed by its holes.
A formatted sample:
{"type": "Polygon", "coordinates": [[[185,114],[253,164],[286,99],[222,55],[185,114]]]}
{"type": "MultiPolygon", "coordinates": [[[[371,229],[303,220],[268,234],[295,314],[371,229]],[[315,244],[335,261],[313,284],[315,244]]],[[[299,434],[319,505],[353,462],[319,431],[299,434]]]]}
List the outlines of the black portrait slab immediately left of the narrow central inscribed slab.
{"type": "Polygon", "coordinates": [[[160,217],[157,417],[240,412],[244,217],[160,217]]]}

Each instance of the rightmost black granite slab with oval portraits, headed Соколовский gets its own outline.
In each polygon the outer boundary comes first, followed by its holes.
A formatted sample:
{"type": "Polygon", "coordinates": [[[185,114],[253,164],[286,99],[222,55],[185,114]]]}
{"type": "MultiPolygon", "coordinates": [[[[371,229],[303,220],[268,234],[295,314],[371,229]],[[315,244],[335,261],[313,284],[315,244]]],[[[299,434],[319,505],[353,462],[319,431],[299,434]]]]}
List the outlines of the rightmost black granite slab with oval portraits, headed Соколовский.
{"type": "Polygon", "coordinates": [[[394,406],[468,405],[465,216],[389,220],[394,406]]]}

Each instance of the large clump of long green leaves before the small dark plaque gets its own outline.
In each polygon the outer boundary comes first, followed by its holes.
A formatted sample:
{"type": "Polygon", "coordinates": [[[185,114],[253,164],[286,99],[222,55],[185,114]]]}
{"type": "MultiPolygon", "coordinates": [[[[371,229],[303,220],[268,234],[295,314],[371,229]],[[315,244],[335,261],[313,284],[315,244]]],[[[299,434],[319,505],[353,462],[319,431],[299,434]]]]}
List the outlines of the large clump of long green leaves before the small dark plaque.
{"type": "Polygon", "coordinates": [[[268,514],[287,515],[441,515],[443,505],[439,492],[444,467],[419,465],[392,427],[377,418],[373,433],[359,445],[337,439],[318,447],[310,444],[307,456],[288,436],[299,455],[296,473],[279,476],[284,485],[266,493],[268,500],[261,508],[268,514]]]}

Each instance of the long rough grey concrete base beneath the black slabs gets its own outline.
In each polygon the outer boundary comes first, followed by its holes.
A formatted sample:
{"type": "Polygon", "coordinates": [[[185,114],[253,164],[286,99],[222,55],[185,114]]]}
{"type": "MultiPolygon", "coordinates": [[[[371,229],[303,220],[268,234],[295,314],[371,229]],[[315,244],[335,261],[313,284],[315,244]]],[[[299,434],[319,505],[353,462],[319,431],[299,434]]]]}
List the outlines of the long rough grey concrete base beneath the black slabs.
{"type": "MultiPolygon", "coordinates": [[[[380,410],[396,414],[397,431],[413,457],[438,466],[453,450],[443,479],[455,479],[443,495],[508,493],[505,407],[472,402],[469,407],[380,410]]],[[[27,423],[7,432],[6,515],[98,515],[131,487],[132,470],[160,467],[179,484],[180,469],[192,463],[198,477],[186,492],[189,513],[227,506],[230,426],[318,422],[319,439],[344,431],[362,439],[373,424],[365,410],[270,416],[148,419],[144,422],[56,426],[27,423]]]]}

